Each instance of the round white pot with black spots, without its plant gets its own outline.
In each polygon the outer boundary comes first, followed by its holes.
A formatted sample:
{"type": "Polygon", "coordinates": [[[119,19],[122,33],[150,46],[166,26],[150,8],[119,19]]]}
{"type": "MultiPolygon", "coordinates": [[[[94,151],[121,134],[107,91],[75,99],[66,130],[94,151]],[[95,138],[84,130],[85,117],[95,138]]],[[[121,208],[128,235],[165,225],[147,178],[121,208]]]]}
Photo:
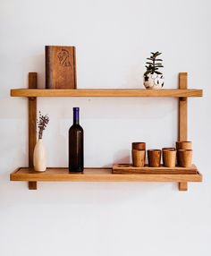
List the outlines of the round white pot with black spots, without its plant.
{"type": "Polygon", "coordinates": [[[162,89],[165,84],[165,77],[163,74],[148,73],[144,75],[144,86],[146,89],[162,89]]]}

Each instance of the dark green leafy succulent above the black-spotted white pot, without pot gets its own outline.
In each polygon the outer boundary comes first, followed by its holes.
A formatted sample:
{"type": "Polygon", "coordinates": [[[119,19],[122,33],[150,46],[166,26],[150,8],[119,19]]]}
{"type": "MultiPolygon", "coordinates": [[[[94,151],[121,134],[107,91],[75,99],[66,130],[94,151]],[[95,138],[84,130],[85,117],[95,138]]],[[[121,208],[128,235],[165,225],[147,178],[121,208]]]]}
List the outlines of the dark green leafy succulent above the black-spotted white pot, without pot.
{"type": "Polygon", "coordinates": [[[161,55],[161,53],[156,52],[152,53],[149,58],[147,58],[148,62],[146,63],[147,65],[145,66],[147,68],[147,71],[144,73],[145,76],[148,75],[148,73],[156,73],[156,74],[163,74],[159,72],[159,68],[164,67],[162,64],[162,59],[158,59],[157,56],[161,55]]]}

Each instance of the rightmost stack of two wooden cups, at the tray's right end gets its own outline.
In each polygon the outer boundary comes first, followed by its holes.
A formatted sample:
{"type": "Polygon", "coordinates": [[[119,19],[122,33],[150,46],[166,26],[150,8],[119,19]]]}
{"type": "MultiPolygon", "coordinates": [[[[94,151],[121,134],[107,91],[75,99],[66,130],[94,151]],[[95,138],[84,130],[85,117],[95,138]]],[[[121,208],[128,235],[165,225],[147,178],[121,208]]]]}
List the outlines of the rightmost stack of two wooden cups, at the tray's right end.
{"type": "Polygon", "coordinates": [[[192,142],[177,141],[177,164],[181,167],[190,167],[192,165],[192,142]]]}

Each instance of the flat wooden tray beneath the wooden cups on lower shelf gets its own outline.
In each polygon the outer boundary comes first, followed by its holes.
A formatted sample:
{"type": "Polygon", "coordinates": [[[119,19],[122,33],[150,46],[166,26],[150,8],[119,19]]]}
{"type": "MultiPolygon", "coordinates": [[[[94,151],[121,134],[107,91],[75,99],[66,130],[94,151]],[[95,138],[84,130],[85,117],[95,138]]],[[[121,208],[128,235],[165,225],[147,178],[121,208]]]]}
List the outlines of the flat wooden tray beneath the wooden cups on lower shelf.
{"type": "Polygon", "coordinates": [[[141,174],[141,175],[196,175],[198,174],[198,169],[195,165],[191,167],[149,167],[148,165],[144,167],[134,167],[131,164],[115,164],[112,170],[113,174],[141,174]]]}

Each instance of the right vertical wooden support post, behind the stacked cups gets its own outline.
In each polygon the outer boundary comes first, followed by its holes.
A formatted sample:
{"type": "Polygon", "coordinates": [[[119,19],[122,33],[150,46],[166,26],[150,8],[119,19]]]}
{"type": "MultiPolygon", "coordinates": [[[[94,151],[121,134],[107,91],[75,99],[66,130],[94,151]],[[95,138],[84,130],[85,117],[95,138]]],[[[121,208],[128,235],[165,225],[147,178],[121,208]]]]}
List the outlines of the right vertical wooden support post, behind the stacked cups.
{"type": "MultiPolygon", "coordinates": [[[[188,88],[188,73],[179,73],[179,89],[188,88]]],[[[188,140],[188,98],[179,98],[178,141],[188,140]]],[[[179,183],[180,191],[188,190],[188,183],[179,183]]]]}

